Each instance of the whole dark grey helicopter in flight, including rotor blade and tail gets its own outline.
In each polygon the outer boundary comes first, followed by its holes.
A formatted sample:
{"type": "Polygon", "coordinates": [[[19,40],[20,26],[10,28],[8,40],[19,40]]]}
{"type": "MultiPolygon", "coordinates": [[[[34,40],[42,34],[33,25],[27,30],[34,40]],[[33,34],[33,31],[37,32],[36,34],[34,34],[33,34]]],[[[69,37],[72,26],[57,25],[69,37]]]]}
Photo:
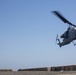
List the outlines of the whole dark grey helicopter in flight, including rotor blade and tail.
{"type": "Polygon", "coordinates": [[[62,47],[72,42],[75,46],[76,44],[73,41],[76,40],[76,25],[69,22],[65,17],[61,15],[59,11],[52,11],[52,13],[55,14],[64,23],[67,23],[69,25],[67,30],[60,36],[60,38],[62,39],[62,42],[60,42],[60,39],[58,38],[58,34],[57,34],[57,37],[56,37],[56,42],[58,41],[57,45],[62,47]]]}

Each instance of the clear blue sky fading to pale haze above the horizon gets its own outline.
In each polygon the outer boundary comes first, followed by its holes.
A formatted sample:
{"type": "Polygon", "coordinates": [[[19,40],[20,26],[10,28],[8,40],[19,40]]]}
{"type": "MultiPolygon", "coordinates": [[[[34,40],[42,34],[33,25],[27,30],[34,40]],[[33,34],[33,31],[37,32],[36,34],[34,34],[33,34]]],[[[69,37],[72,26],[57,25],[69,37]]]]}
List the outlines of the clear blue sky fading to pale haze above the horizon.
{"type": "Polygon", "coordinates": [[[0,0],[0,68],[76,64],[76,46],[55,43],[68,25],[54,10],[76,24],[76,0],[0,0]]]}

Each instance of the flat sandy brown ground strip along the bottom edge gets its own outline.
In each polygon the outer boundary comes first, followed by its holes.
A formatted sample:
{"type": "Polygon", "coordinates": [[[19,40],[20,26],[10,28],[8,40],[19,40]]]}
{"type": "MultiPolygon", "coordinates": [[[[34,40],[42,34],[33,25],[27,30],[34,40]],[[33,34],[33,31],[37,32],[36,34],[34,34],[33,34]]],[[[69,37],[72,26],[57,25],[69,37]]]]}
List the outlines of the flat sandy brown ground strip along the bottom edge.
{"type": "Polygon", "coordinates": [[[0,75],[76,75],[76,71],[64,71],[64,72],[15,71],[15,72],[0,72],[0,75]]]}

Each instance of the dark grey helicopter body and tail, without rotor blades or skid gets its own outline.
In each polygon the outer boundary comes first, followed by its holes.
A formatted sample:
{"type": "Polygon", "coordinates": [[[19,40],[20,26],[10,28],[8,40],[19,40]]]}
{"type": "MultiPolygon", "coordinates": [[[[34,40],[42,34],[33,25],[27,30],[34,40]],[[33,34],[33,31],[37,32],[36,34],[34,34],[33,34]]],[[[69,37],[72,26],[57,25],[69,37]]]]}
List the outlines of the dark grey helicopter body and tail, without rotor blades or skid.
{"type": "Polygon", "coordinates": [[[63,41],[59,44],[60,47],[76,40],[76,27],[68,28],[67,31],[60,37],[63,38],[63,41]]]}

